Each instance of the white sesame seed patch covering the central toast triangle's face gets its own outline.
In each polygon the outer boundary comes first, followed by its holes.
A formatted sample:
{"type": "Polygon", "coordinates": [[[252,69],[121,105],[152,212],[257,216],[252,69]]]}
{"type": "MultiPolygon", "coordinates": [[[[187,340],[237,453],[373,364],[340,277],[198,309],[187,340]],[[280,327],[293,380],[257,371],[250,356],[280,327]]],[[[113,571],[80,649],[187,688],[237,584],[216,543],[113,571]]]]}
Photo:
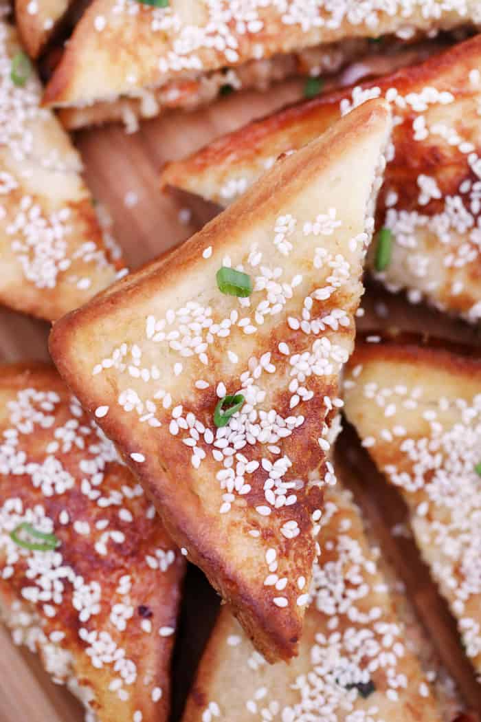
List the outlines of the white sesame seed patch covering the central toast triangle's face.
{"type": "MultiPolygon", "coordinates": [[[[336,300],[352,287],[369,238],[367,232],[350,238],[346,256],[316,247],[316,237],[322,243],[340,225],[333,208],[304,225],[292,214],[279,216],[270,232],[270,258],[255,243],[247,257],[222,258],[221,266],[252,275],[250,298],[224,298],[222,303],[216,299],[211,305],[189,300],[169,308],[164,316],[149,313],[136,342],[113,347],[92,367],[92,376],[105,375],[115,383],[117,413],[121,410],[135,416],[140,425],[165,430],[179,458],[216,479],[217,488],[211,492],[219,499],[219,515],[236,518],[240,513],[245,531],[254,539],[262,536],[263,519],[276,530],[275,547],[265,552],[263,583],[266,591],[272,590],[272,603],[281,609],[308,601],[304,576],[288,579],[294,549],[302,548],[289,542],[301,534],[299,523],[304,534],[310,528],[312,539],[320,510],[312,508],[312,524],[302,509],[312,505],[309,495],[315,487],[335,483],[334,469],[325,457],[332,419],[343,405],[336,394],[337,377],[348,358],[355,310],[355,305],[340,308],[336,300]],[[314,248],[307,263],[304,252],[306,274],[290,277],[289,254],[294,244],[308,237],[314,248]],[[313,273],[317,282],[311,287],[313,273]],[[277,329],[273,350],[262,349],[264,325],[277,329]],[[244,339],[261,334],[246,365],[239,348],[244,339]],[[154,362],[156,349],[162,357],[167,351],[168,369],[154,362]],[[225,354],[220,378],[214,362],[219,353],[225,354]],[[228,386],[223,377],[228,378],[228,386]],[[326,388],[332,391],[327,394],[326,388]],[[227,393],[242,393],[245,403],[228,425],[215,427],[212,399],[224,399],[227,393]],[[315,406],[318,414],[318,432],[315,447],[305,442],[310,459],[307,482],[291,440],[306,438],[309,406],[315,406]]],[[[371,227],[372,219],[367,219],[366,228],[371,227]]],[[[205,261],[211,254],[211,246],[202,251],[205,261]]],[[[111,406],[104,404],[94,413],[102,419],[110,412],[111,406]]],[[[141,451],[130,456],[135,464],[146,461],[141,451]]],[[[320,500],[317,495],[312,498],[320,500]]]]}

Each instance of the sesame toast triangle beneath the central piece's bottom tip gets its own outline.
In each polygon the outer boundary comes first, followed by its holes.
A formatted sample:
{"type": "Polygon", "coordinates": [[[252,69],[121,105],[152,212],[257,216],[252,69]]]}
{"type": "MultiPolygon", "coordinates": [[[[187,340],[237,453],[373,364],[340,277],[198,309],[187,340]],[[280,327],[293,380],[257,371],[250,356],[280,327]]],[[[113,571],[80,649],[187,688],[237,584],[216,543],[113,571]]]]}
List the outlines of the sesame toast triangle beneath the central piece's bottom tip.
{"type": "Polygon", "coordinates": [[[299,657],[265,664],[224,607],[182,722],[341,722],[368,719],[368,710],[376,722],[444,718],[412,651],[413,640],[416,652],[422,647],[419,630],[403,627],[379,549],[369,546],[360,510],[339,484],[326,492],[299,657]]]}

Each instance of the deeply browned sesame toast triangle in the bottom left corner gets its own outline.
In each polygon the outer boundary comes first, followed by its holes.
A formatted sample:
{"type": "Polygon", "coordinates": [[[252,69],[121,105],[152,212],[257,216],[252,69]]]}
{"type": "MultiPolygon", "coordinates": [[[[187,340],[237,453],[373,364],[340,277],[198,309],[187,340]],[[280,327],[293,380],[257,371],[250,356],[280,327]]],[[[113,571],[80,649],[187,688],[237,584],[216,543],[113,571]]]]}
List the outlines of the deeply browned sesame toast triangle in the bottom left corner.
{"type": "Polygon", "coordinates": [[[1,367],[0,442],[0,613],[14,642],[92,722],[167,722],[185,564],[153,505],[53,367],[1,367]]]}

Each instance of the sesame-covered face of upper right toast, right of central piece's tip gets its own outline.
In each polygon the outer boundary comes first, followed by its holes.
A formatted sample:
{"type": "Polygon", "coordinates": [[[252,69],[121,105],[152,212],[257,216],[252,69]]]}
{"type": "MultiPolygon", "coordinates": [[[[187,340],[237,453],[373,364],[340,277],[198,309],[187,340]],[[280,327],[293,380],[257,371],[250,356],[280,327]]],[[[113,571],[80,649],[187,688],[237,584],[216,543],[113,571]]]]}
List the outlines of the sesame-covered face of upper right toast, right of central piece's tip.
{"type": "Polygon", "coordinates": [[[436,85],[405,93],[396,87],[356,87],[351,99],[340,104],[341,113],[346,113],[368,98],[384,96],[394,107],[397,129],[388,158],[392,175],[387,175],[376,217],[378,227],[392,232],[392,261],[378,272],[372,251],[369,265],[374,276],[391,291],[407,290],[411,303],[426,298],[436,308],[459,313],[472,323],[481,318],[474,270],[481,260],[478,45],[479,38],[475,38],[474,52],[467,61],[459,61],[459,73],[467,77],[462,92],[456,94],[461,78],[454,74],[450,79],[441,77],[436,85]],[[446,165],[454,165],[456,170],[446,173],[445,165],[431,169],[426,164],[425,173],[416,168],[409,175],[406,188],[402,178],[407,164],[402,145],[406,139],[421,161],[438,152],[446,165]]]}

